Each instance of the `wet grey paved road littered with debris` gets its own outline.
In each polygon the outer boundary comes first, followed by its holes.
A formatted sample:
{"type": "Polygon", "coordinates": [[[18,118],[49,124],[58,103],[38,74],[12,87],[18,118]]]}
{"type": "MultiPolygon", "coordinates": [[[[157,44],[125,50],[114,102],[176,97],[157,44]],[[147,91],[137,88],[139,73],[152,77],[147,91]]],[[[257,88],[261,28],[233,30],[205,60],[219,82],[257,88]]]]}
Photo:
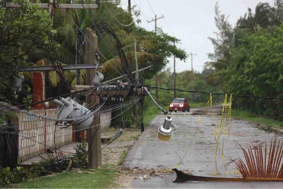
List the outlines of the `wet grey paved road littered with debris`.
{"type": "MultiPolygon", "coordinates": [[[[183,163],[178,167],[179,170],[188,170],[192,174],[198,176],[210,176],[215,170],[215,139],[212,133],[210,115],[204,115],[202,123],[192,145],[189,145],[192,135],[195,132],[200,115],[181,115],[172,116],[172,124],[174,125],[174,133],[170,141],[159,141],[157,138],[157,128],[162,125],[164,115],[157,115],[145,128],[145,132],[139,136],[139,140],[129,151],[124,166],[154,169],[172,169],[184,156],[187,148],[189,150],[183,159],[183,163]],[[157,167],[157,165],[162,167],[157,167]]],[[[217,131],[220,116],[214,115],[213,121],[217,131]]],[[[228,158],[236,159],[242,157],[242,151],[238,143],[251,143],[256,140],[269,141],[273,133],[267,133],[254,127],[252,123],[244,120],[231,121],[231,135],[225,142],[226,162],[228,158]]],[[[282,138],[282,137],[279,137],[282,138]]],[[[220,139],[222,141],[222,138],[220,139]]],[[[222,142],[221,142],[222,144],[222,142]]],[[[218,167],[222,165],[221,156],[218,156],[218,167]]],[[[227,169],[234,172],[233,164],[227,169]]],[[[224,173],[225,170],[221,169],[224,173]]],[[[236,177],[239,174],[222,174],[215,177],[236,177]]],[[[283,188],[283,183],[211,183],[211,182],[186,182],[172,183],[175,174],[167,174],[164,178],[156,177],[144,181],[142,179],[132,180],[133,188],[283,188]]]]}

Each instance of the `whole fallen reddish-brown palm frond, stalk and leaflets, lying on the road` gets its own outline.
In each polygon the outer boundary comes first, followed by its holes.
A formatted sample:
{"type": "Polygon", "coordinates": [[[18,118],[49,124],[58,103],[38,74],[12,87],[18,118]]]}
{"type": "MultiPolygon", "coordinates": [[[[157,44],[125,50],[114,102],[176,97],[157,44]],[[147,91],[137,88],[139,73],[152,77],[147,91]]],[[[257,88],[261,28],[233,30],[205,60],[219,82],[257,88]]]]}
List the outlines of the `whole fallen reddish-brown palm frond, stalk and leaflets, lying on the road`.
{"type": "MultiPolygon", "coordinates": [[[[258,142],[258,141],[257,141],[258,142]]],[[[207,182],[253,182],[253,181],[283,181],[283,141],[277,142],[277,137],[271,140],[269,152],[266,142],[256,144],[256,146],[243,146],[246,164],[242,159],[233,160],[243,178],[223,178],[223,177],[199,177],[185,174],[177,169],[177,177],[173,182],[186,181],[207,181],[207,182]],[[263,145],[265,144],[264,148],[263,145]]]]}

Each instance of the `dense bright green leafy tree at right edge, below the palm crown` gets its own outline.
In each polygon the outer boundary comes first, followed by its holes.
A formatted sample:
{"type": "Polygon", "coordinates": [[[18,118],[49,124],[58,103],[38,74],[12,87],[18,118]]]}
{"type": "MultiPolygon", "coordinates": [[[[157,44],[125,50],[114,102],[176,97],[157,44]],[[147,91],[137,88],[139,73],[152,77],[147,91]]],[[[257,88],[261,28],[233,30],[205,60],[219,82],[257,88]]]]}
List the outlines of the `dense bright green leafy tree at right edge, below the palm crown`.
{"type": "MultiPolygon", "coordinates": [[[[233,54],[230,65],[219,72],[226,91],[233,91],[234,94],[283,97],[282,48],[283,26],[273,33],[261,28],[253,35],[246,35],[233,54]]],[[[238,98],[236,103],[254,112],[263,110],[266,115],[282,119],[282,100],[238,98]]]]}

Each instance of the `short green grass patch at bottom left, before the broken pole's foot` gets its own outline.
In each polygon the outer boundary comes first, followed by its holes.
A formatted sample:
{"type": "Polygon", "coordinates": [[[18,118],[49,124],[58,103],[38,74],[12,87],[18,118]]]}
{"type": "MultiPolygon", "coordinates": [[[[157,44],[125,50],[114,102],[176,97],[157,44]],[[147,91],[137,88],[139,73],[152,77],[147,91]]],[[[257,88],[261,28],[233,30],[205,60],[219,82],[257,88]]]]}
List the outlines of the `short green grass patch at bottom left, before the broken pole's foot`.
{"type": "MultiPolygon", "coordinates": [[[[87,170],[86,170],[87,171],[87,170]]],[[[49,177],[39,177],[15,184],[12,188],[117,188],[113,182],[115,171],[96,169],[95,174],[63,172],[49,177]]]]}

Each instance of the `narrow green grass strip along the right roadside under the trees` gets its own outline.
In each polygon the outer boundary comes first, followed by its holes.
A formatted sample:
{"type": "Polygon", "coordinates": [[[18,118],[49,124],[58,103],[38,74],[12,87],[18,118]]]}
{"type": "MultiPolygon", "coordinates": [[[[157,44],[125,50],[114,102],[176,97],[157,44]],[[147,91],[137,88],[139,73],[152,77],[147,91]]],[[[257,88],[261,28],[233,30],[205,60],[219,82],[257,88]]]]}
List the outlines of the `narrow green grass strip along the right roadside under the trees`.
{"type": "Polygon", "coordinates": [[[278,121],[273,118],[262,117],[260,115],[256,115],[256,114],[249,113],[249,112],[241,112],[241,111],[232,110],[231,116],[236,119],[249,120],[252,122],[257,122],[257,123],[260,123],[266,126],[272,126],[272,127],[277,127],[277,128],[282,128],[282,125],[283,125],[282,121],[278,121]]]}

